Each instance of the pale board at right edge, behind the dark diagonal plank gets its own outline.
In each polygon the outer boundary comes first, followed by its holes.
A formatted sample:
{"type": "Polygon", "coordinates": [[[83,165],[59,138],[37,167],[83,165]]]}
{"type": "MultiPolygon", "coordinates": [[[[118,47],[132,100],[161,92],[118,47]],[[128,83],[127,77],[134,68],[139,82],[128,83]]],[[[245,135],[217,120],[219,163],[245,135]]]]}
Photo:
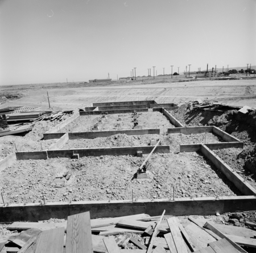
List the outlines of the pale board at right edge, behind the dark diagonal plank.
{"type": "Polygon", "coordinates": [[[255,230],[247,229],[246,227],[237,227],[229,225],[214,224],[216,229],[223,234],[237,235],[238,237],[253,237],[256,234],[255,230]]]}

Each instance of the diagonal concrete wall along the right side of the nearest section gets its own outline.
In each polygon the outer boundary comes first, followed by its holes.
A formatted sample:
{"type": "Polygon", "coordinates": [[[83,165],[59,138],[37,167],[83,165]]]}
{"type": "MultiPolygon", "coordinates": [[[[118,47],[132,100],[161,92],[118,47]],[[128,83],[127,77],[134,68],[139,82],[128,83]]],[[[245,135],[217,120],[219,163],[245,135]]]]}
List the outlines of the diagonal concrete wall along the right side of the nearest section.
{"type": "Polygon", "coordinates": [[[207,157],[214,165],[221,170],[221,172],[243,193],[243,195],[255,195],[256,189],[254,189],[249,183],[244,182],[244,179],[233,172],[224,161],[222,161],[216,154],[213,153],[207,146],[201,146],[201,152],[207,157]]]}

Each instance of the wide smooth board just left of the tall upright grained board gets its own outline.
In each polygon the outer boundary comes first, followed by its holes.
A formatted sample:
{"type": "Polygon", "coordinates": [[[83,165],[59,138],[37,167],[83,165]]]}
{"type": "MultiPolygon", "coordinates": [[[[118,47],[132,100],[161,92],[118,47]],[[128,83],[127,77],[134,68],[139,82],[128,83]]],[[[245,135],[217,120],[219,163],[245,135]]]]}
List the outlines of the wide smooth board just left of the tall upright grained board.
{"type": "Polygon", "coordinates": [[[36,243],[35,253],[63,253],[64,227],[44,230],[36,243]]]}

